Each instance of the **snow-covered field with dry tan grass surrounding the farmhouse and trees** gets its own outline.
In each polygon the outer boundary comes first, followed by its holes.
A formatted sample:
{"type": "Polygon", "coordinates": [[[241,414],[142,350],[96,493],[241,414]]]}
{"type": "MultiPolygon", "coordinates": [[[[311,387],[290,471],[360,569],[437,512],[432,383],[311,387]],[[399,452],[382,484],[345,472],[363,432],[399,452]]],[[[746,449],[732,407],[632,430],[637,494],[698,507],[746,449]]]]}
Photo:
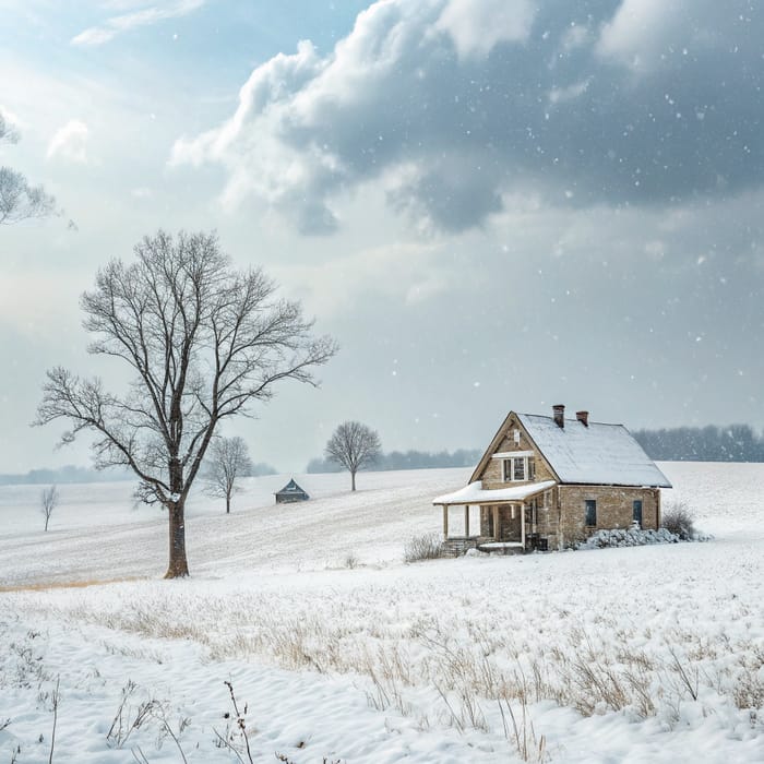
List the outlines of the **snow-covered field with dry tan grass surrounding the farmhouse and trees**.
{"type": "Polygon", "coordinates": [[[404,564],[469,470],[275,476],[172,582],[130,484],[0,487],[0,762],[764,761],[764,465],[660,466],[715,540],[404,564]]]}

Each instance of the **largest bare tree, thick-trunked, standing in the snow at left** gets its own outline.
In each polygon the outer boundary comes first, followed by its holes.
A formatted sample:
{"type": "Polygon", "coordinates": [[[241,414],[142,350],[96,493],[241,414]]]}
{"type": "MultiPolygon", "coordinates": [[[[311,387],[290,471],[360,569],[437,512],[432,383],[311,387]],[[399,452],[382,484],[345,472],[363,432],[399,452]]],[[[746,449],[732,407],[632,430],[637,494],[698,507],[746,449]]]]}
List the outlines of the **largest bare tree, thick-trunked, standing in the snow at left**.
{"type": "Polygon", "coordinates": [[[313,367],[336,346],[312,336],[299,303],[275,299],[261,270],[234,270],[214,235],[159,231],[135,256],[111,261],[81,298],[88,351],[127,363],[129,389],[112,394],[55,368],[35,423],[68,420],[62,443],[89,431],[96,467],[135,473],[138,498],[167,509],[166,577],[186,576],[186,500],[215,428],[283,380],[315,384],[313,367]]]}

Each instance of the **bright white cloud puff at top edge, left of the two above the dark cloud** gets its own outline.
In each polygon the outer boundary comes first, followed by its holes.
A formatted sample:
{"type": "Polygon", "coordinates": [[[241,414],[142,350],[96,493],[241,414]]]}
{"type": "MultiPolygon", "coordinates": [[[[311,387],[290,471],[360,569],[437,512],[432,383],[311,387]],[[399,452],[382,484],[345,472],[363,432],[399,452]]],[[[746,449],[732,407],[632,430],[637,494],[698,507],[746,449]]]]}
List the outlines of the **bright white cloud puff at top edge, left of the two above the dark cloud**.
{"type": "Polygon", "coordinates": [[[529,0],[451,0],[435,29],[451,36],[459,58],[485,58],[499,43],[524,43],[535,15],[529,0]]]}

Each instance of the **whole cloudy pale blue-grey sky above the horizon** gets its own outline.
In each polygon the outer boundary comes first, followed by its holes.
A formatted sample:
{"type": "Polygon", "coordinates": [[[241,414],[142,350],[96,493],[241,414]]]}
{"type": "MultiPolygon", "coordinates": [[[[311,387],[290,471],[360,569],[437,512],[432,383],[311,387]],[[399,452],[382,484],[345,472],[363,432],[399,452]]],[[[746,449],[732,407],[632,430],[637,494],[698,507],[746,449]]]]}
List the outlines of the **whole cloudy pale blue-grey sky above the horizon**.
{"type": "Polygon", "coordinates": [[[552,404],[764,426],[757,0],[0,0],[8,165],[63,214],[0,227],[0,473],[45,370],[119,383],[79,295],[216,229],[342,350],[229,434],[300,470],[360,419],[482,447],[552,404]],[[73,8],[75,7],[75,8],[73,8]],[[73,224],[69,224],[72,220],[73,224]]]}

